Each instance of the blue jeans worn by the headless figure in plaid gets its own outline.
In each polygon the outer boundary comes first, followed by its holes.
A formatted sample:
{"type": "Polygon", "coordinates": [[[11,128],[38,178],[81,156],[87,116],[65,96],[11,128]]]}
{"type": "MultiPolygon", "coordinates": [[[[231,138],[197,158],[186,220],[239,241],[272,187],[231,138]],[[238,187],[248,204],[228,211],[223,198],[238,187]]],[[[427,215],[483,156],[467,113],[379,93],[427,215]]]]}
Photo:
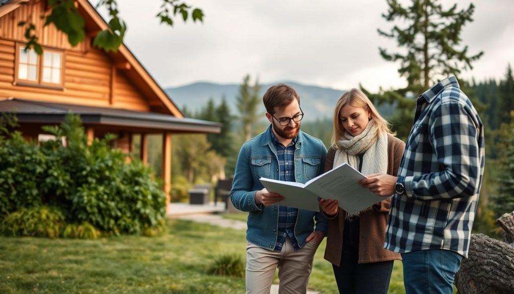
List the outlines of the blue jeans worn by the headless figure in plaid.
{"type": "Polygon", "coordinates": [[[463,256],[450,250],[428,249],[402,253],[406,294],[452,294],[463,256]]]}

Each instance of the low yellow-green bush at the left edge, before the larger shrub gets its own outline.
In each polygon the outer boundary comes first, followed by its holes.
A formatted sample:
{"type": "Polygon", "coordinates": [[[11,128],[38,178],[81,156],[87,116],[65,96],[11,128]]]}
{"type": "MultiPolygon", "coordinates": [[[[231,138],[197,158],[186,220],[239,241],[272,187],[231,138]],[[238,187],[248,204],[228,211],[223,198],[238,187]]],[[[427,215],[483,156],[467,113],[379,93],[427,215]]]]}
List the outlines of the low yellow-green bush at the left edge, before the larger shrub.
{"type": "Polygon", "coordinates": [[[0,234],[54,238],[59,237],[63,224],[64,216],[52,207],[22,208],[9,214],[0,223],[0,234]]]}

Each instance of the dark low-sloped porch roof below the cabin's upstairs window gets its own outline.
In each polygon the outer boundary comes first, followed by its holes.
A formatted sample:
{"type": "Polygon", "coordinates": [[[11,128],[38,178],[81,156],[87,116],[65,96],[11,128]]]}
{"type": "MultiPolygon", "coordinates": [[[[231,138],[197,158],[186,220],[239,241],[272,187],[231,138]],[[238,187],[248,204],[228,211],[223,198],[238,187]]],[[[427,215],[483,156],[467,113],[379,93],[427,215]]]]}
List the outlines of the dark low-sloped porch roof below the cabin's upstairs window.
{"type": "Polygon", "coordinates": [[[42,102],[12,98],[0,100],[0,113],[13,112],[19,123],[59,124],[69,113],[79,114],[83,124],[122,126],[137,131],[144,129],[186,133],[219,133],[221,124],[169,114],[141,112],[107,107],[42,102]]]}

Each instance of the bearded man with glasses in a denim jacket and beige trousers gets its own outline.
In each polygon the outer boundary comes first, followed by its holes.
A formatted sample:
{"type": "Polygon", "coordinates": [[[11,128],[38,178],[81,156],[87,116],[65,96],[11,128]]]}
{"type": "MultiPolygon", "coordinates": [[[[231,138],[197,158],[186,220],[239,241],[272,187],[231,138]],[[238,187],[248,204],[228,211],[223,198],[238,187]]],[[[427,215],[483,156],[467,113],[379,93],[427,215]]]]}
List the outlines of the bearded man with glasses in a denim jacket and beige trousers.
{"type": "Polygon", "coordinates": [[[269,293],[277,266],[280,293],[305,293],[327,220],[321,213],[281,206],[284,198],[268,192],[259,179],[305,183],[322,173],[326,148],[300,131],[303,111],[294,89],[274,85],[263,101],[270,126],[241,147],[230,193],[234,206],[249,213],[246,293],[269,293]]]}

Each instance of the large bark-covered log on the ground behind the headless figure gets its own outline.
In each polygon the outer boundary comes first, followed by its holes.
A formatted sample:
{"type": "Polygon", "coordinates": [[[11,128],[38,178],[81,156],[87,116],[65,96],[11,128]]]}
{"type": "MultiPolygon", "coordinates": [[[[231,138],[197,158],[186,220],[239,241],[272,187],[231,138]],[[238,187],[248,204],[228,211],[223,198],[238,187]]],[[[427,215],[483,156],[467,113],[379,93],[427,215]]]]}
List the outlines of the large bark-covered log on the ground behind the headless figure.
{"type": "Polygon", "coordinates": [[[472,234],[468,258],[455,276],[459,294],[512,294],[514,292],[514,246],[472,234]]]}

